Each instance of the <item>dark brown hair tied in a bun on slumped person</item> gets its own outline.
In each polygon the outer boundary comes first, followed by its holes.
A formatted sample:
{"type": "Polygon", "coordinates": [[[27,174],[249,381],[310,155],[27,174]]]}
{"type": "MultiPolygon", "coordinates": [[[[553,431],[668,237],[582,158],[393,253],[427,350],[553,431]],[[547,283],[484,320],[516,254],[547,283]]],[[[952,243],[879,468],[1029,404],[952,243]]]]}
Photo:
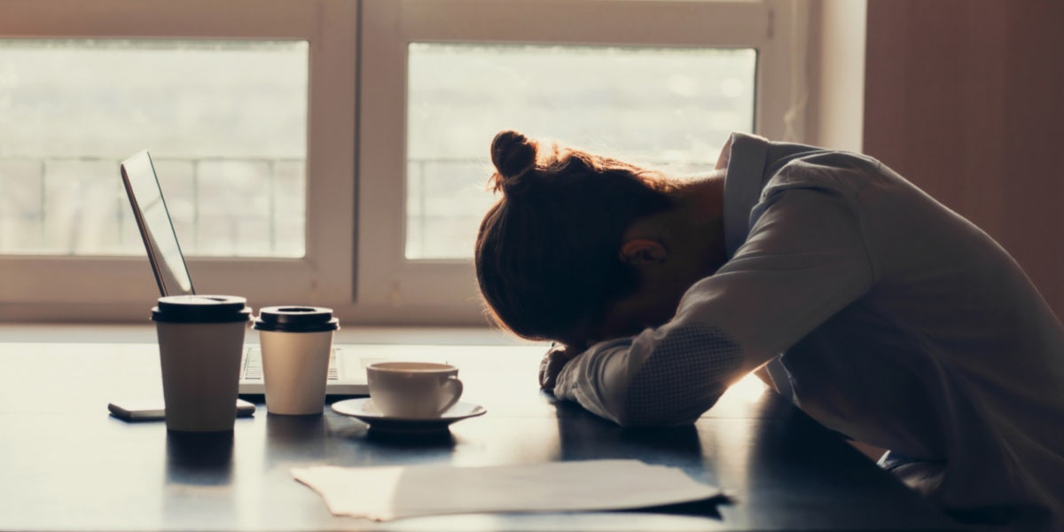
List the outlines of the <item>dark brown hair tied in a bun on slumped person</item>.
{"type": "Polygon", "coordinates": [[[477,235],[480,290],[519,336],[585,342],[639,278],[619,260],[635,219],[672,205],[660,174],[577,149],[548,150],[515,131],[492,142],[489,185],[502,197],[477,235]]]}

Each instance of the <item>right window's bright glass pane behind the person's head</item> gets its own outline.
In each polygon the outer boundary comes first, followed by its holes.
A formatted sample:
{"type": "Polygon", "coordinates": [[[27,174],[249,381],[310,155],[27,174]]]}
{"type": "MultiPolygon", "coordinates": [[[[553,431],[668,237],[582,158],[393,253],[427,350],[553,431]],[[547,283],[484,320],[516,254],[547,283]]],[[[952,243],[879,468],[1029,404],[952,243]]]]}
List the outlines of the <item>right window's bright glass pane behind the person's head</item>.
{"type": "Polygon", "coordinates": [[[500,130],[686,174],[753,128],[753,49],[417,43],[408,54],[412,260],[472,256],[500,130]]]}

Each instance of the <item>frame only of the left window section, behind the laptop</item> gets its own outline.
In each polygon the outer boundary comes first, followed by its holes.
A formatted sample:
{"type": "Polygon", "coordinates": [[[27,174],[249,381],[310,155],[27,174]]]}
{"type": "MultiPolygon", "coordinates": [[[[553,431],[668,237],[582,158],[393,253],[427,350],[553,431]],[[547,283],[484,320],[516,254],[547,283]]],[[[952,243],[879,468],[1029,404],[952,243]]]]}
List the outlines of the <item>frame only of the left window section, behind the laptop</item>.
{"type": "MultiPolygon", "coordinates": [[[[350,304],[355,194],[350,147],[355,138],[356,102],[352,95],[358,67],[352,50],[359,38],[355,0],[3,0],[2,4],[2,38],[307,40],[305,255],[186,257],[186,262],[200,294],[244,295],[253,305],[293,301],[350,304]],[[262,276],[269,282],[263,282],[262,276]]],[[[116,165],[116,182],[118,179],[116,165]]],[[[2,255],[0,319],[144,319],[149,303],[159,295],[149,271],[143,257],[2,255]]]]}

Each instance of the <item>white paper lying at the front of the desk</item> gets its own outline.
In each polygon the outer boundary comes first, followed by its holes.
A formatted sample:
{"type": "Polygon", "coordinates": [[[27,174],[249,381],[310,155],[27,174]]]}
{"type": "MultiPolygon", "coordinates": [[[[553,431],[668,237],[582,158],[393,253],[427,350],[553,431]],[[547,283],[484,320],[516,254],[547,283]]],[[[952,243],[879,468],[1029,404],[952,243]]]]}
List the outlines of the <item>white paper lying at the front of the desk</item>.
{"type": "Polygon", "coordinates": [[[622,510],[691,502],[720,491],[674,467],[592,460],[493,467],[296,468],[333,515],[385,521],[425,515],[622,510]]]}

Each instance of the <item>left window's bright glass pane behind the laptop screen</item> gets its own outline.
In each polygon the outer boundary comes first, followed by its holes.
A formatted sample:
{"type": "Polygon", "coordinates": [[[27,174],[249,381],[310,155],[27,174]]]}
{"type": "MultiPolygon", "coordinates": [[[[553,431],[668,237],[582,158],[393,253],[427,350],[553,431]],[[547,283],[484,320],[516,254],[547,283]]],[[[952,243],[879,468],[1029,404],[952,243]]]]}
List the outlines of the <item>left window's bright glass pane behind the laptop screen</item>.
{"type": "Polygon", "coordinates": [[[186,255],[304,254],[306,41],[0,40],[0,253],[144,254],[147,149],[186,255]]]}

